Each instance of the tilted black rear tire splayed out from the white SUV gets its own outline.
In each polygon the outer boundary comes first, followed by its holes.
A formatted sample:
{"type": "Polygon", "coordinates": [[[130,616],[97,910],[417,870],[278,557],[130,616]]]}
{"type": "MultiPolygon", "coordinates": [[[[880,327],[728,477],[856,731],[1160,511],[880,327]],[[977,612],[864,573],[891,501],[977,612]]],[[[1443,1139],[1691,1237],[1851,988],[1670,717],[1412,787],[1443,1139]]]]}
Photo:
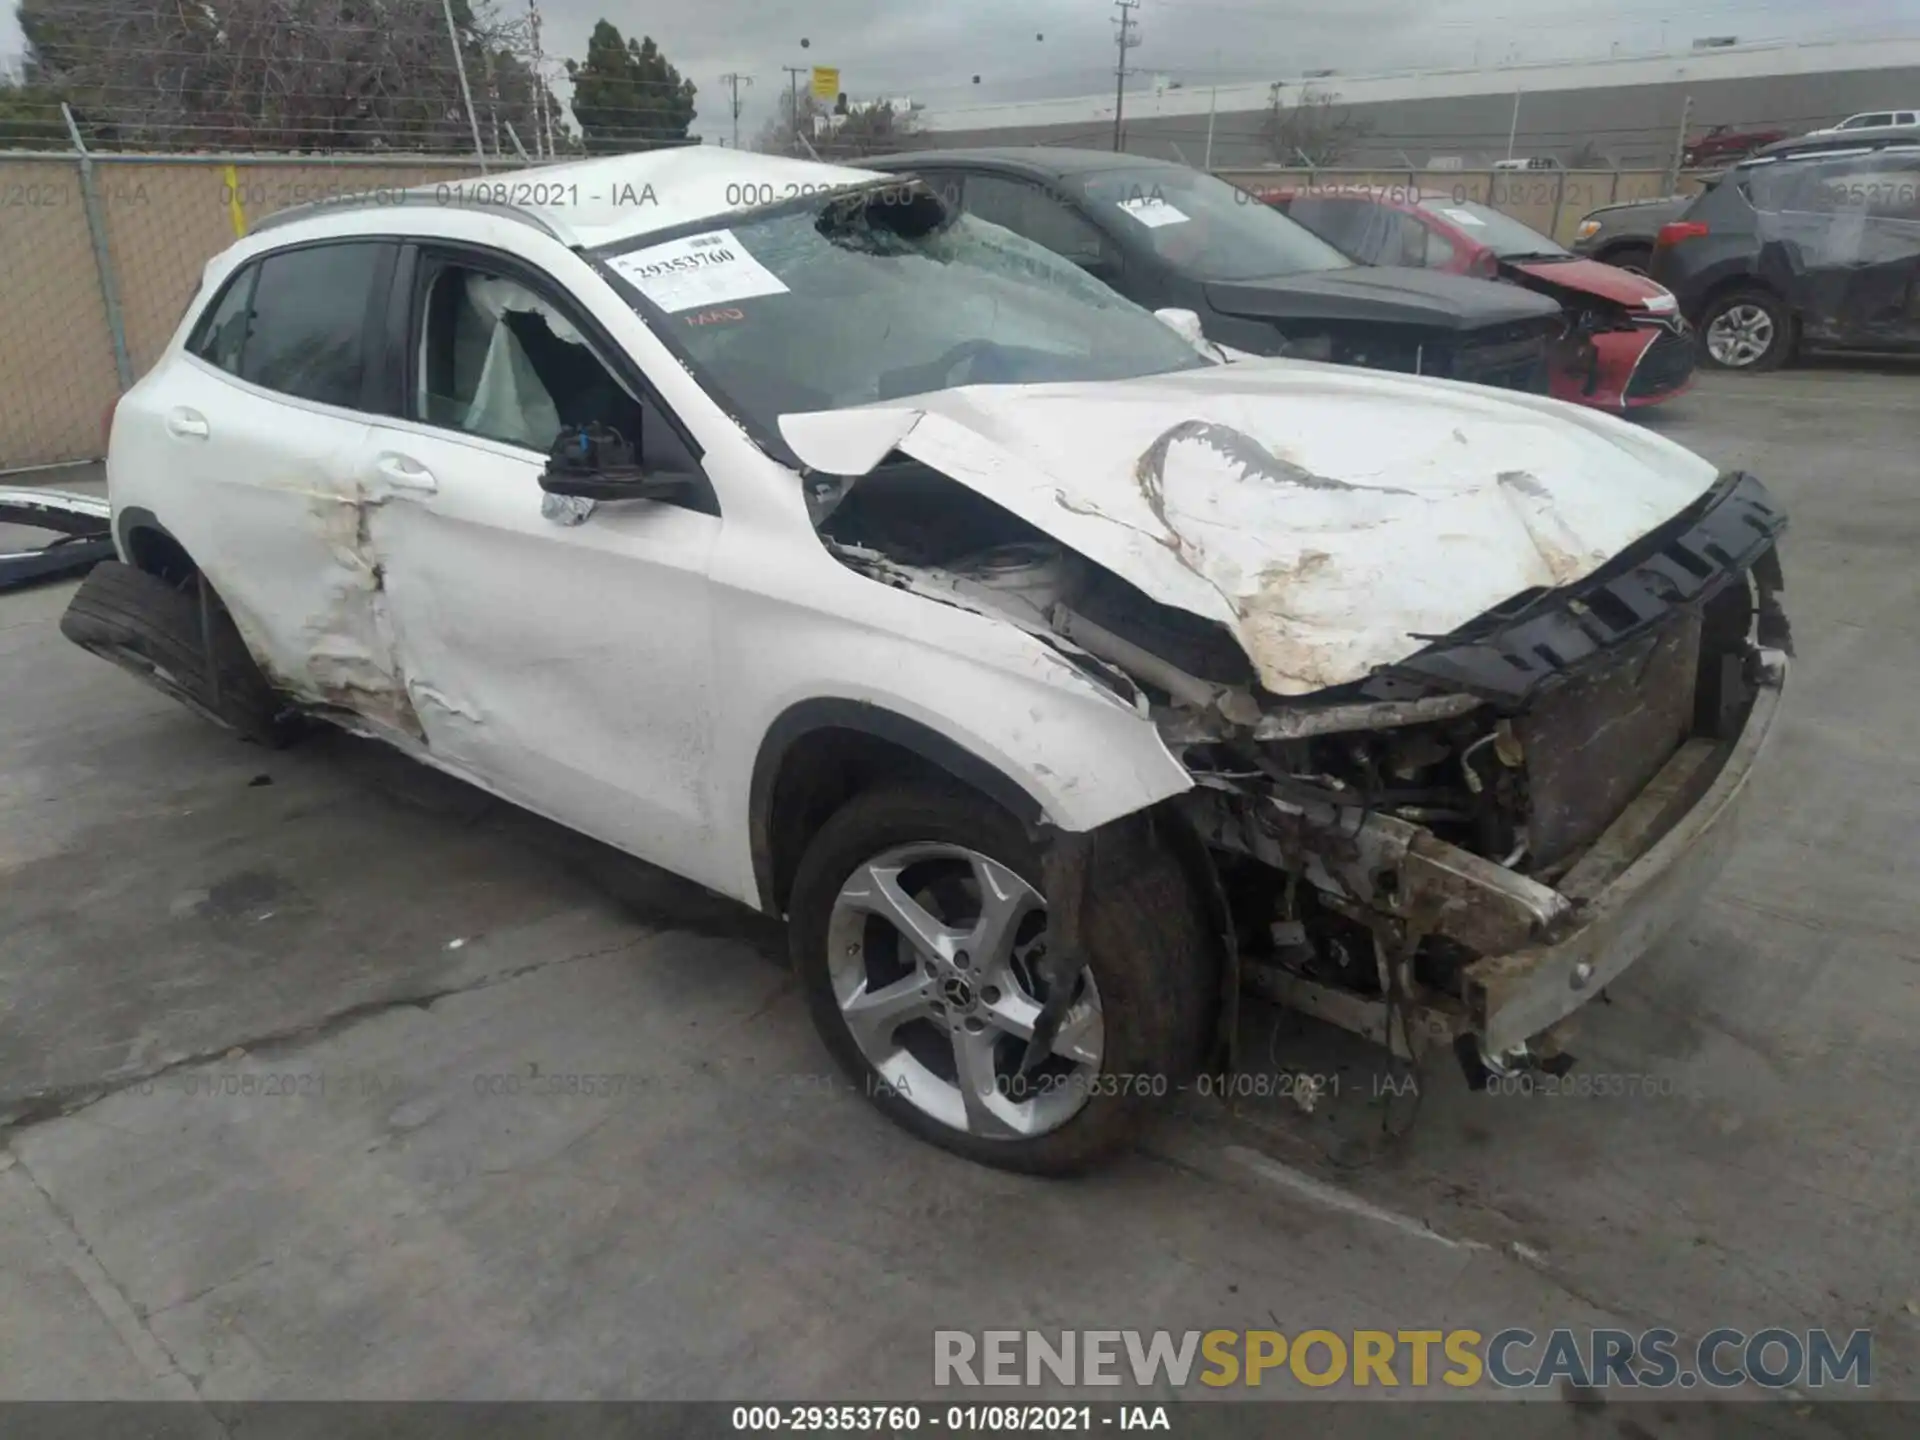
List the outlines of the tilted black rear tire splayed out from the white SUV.
{"type": "Polygon", "coordinates": [[[209,599],[211,670],[202,643],[198,580],[177,589],[146,570],[102,561],[67,603],[60,632],[246,739],[286,743],[292,728],[280,720],[280,699],[253,664],[227,607],[219,597],[209,599]]]}

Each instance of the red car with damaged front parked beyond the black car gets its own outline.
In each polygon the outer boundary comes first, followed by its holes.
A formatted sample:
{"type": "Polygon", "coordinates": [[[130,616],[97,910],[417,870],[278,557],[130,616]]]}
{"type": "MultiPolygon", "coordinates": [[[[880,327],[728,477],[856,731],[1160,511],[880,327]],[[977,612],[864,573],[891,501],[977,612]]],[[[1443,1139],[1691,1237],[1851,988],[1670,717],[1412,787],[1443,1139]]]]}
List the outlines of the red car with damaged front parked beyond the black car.
{"type": "Polygon", "coordinates": [[[1693,384],[1693,334],[1672,294],[1644,275],[1582,259],[1511,215],[1409,190],[1271,190],[1269,205],[1365,265],[1419,265],[1507,280],[1561,303],[1549,357],[1555,399],[1624,411],[1693,384]]]}

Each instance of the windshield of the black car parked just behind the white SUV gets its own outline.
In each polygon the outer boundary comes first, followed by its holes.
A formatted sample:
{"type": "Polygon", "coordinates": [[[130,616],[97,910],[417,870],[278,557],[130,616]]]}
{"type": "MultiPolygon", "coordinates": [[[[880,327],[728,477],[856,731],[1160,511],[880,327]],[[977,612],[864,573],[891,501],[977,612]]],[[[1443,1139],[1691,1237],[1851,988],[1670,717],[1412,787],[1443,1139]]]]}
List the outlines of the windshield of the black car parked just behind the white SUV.
{"type": "Polygon", "coordinates": [[[1194,280],[1271,280],[1354,261],[1258,196],[1177,165],[1096,171],[1079,184],[1108,230],[1194,280]]]}

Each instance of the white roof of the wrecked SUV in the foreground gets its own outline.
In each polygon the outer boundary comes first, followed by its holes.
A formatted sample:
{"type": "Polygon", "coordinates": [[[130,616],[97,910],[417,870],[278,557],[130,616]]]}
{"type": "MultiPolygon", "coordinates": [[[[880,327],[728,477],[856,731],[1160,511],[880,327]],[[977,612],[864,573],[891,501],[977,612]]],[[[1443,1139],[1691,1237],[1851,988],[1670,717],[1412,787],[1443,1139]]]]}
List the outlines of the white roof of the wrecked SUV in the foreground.
{"type": "Polygon", "coordinates": [[[457,205],[509,213],[563,244],[593,250],[816,190],[883,179],[879,171],[753,150],[676,146],[440,180],[363,202],[296,205],[269,215],[253,232],[363,205],[457,205]]]}

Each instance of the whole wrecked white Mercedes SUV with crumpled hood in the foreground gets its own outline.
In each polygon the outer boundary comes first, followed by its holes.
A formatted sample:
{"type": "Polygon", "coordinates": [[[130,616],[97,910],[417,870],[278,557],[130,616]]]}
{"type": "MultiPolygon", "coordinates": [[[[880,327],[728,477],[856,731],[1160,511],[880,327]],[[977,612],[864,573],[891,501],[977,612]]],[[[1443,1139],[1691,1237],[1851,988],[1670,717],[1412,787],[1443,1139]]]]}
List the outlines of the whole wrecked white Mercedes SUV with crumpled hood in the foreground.
{"type": "Polygon", "coordinates": [[[989,1164],[1110,1150],[1242,989],[1565,1064],[1730,843],[1780,511],[1188,321],[726,150],[288,211],[119,401],[63,630],[787,918],[854,1087],[989,1164]]]}

